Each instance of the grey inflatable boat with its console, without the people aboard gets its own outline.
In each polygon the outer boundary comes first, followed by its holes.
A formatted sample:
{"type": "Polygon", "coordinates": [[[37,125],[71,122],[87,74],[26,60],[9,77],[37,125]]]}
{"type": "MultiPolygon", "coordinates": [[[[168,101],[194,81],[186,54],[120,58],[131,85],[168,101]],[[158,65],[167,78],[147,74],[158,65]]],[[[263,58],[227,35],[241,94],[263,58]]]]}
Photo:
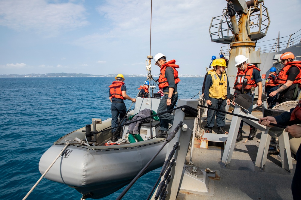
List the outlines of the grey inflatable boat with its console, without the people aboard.
{"type": "MultiPolygon", "coordinates": [[[[127,118],[144,108],[150,109],[150,101],[152,101],[152,109],[157,111],[160,99],[137,98],[135,110],[129,112],[127,118]]],[[[153,136],[159,131],[158,124],[157,121],[154,121],[153,136]]],[[[111,118],[94,125],[96,125],[97,131],[104,130],[111,126],[111,118]]],[[[93,123],[91,127],[93,127],[93,123]]],[[[83,130],[85,127],[58,139],[42,155],[39,162],[39,171],[43,174],[60,155],[45,178],[75,188],[83,195],[83,199],[99,199],[129,184],[157,153],[165,140],[162,138],[148,139],[151,137],[150,127],[144,127],[142,124],[140,136],[144,141],[129,143],[126,138],[127,127],[125,126],[122,139],[117,141],[119,145],[104,145],[104,143],[110,142],[112,136],[110,129],[96,134],[97,144],[93,145],[90,144],[91,142],[87,144],[83,130]],[[67,148],[66,142],[70,142],[67,148]],[[66,149],[60,154],[64,148],[66,149]]],[[[167,148],[166,145],[145,173],[163,165],[167,148]]]]}

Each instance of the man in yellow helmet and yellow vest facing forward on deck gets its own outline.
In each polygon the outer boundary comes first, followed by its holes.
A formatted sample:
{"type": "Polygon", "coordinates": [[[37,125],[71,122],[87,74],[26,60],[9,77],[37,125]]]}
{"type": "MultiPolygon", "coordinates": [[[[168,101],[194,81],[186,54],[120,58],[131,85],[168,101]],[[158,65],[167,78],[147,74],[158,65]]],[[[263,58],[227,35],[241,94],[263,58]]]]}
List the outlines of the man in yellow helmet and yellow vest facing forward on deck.
{"type": "MultiPolygon", "coordinates": [[[[226,103],[230,104],[230,86],[228,76],[225,73],[226,62],[224,59],[219,58],[215,62],[216,70],[210,72],[206,78],[204,97],[208,107],[226,110],[226,103]]],[[[225,134],[225,113],[217,112],[208,109],[207,112],[207,127],[208,132],[212,133],[214,126],[214,118],[216,115],[216,124],[218,127],[218,134],[225,134]]]]}

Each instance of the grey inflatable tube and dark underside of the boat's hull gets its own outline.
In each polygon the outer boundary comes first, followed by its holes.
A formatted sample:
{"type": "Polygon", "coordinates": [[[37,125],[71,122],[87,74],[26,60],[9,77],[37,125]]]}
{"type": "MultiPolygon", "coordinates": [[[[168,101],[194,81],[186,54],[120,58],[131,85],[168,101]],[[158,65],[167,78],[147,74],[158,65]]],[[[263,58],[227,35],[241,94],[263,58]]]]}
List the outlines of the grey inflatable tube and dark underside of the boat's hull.
{"type": "MultiPolygon", "coordinates": [[[[128,184],[164,144],[154,138],[133,144],[114,146],[69,145],[45,175],[45,178],[67,184],[89,198],[107,196],[128,184]]],[[[64,144],[52,145],[41,157],[39,171],[43,174],[60,154],[64,144]]],[[[167,145],[145,173],[161,167],[167,145]]]]}

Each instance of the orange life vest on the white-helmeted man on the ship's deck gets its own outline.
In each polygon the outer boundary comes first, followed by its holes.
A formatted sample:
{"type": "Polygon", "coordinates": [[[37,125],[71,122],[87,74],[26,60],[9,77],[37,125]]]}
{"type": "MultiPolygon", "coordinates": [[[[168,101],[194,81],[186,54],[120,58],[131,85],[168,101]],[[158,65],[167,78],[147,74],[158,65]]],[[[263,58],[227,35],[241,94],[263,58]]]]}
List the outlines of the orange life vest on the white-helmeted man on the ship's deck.
{"type": "Polygon", "coordinates": [[[258,70],[260,71],[260,69],[258,69],[255,65],[253,64],[248,64],[248,67],[246,70],[240,70],[239,68],[237,75],[236,75],[236,79],[235,79],[235,83],[234,83],[234,89],[235,90],[242,90],[242,88],[244,87],[244,90],[250,90],[252,87],[256,88],[257,84],[254,80],[251,80],[252,74],[253,74],[253,70],[258,70]],[[247,84],[244,84],[244,79],[247,79],[247,84]]]}

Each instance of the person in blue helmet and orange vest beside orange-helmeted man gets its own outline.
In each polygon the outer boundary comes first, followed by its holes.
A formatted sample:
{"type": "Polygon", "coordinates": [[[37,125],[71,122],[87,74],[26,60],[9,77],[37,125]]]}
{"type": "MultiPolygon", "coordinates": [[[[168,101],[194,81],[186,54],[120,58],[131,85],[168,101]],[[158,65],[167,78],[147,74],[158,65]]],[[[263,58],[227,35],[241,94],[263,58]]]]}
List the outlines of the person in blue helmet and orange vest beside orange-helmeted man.
{"type": "MultiPolygon", "coordinates": [[[[275,91],[279,88],[279,83],[275,83],[275,78],[277,76],[276,73],[276,68],[275,67],[271,67],[269,74],[268,74],[268,78],[265,80],[265,89],[264,92],[266,93],[266,96],[268,97],[269,94],[272,91],[275,91]]],[[[275,95],[274,97],[269,97],[267,99],[268,102],[268,109],[273,108],[276,103],[277,103],[277,95],[275,95]]]]}

